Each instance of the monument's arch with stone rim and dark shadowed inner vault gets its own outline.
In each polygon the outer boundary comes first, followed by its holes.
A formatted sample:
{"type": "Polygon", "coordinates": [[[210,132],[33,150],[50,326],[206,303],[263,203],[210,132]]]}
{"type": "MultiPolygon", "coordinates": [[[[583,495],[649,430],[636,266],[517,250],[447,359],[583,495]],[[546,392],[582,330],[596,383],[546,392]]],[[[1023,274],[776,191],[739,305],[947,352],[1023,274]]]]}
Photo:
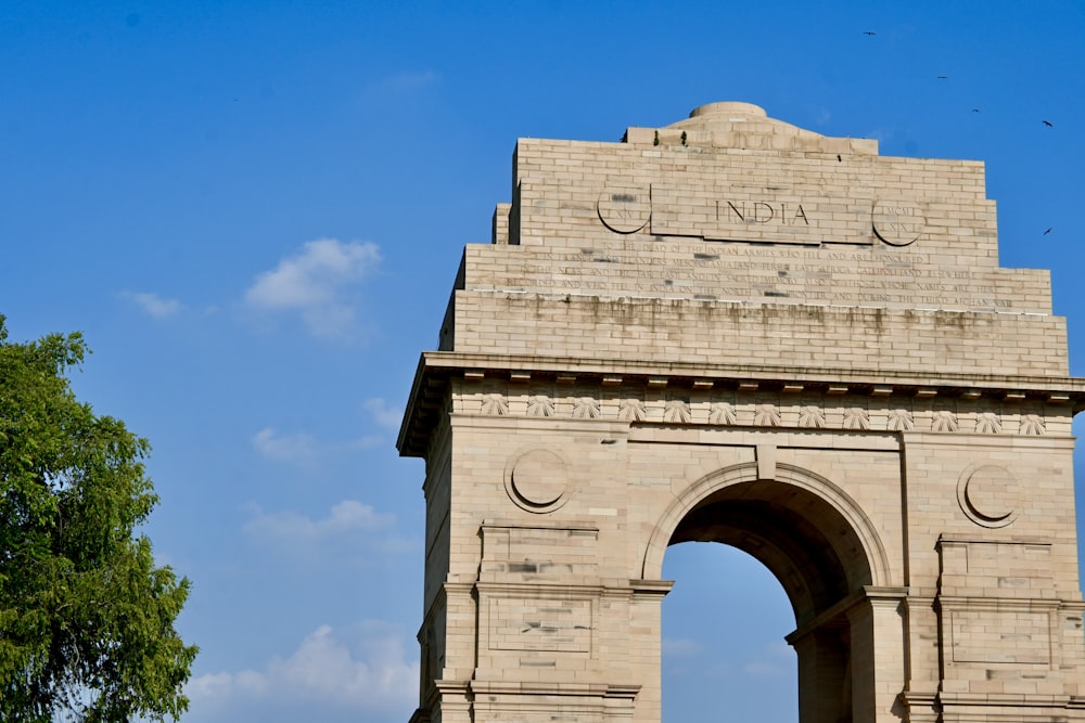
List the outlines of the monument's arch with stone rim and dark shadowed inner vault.
{"type": "Polygon", "coordinates": [[[767,568],[790,605],[794,630],[787,642],[797,654],[799,721],[872,720],[866,595],[885,568],[877,534],[829,480],[782,465],[776,473],[763,479],[755,465],[739,465],[692,485],[664,515],[646,556],[646,577],[662,572],[659,553],[684,542],[718,542],[746,553],[767,568]]]}

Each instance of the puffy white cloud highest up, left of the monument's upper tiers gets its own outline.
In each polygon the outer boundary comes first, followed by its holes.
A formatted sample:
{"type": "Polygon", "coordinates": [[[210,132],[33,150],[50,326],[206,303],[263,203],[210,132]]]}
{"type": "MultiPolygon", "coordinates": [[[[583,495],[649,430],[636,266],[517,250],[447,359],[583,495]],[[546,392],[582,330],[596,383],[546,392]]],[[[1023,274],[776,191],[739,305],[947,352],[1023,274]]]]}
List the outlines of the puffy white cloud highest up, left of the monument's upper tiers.
{"type": "Polygon", "coordinates": [[[352,289],[380,260],[380,249],[370,242],[310,241],[259,274],[245,292],[245,304],[261,311],[295,312],[314,336],[346,336],[355,315],[352,289]]]}

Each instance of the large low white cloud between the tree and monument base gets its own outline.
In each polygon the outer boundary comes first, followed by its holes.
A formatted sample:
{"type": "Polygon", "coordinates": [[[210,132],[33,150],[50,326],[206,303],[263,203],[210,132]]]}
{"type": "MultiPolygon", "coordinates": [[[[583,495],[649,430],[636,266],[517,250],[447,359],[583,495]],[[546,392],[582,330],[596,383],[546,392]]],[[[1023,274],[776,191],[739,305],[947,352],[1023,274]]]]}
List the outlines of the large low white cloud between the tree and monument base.
{"type": "Polygon", "coordinates": [[[407,660],[404,650],[403,636],[387,623],[369,621],[340,632],[321,625],[289,657],[275,656],[263,670],[200,675],[186,685],[186,694],[193,709],[209,702],[314,701],[409,714],[419,663],[407,660]]]}

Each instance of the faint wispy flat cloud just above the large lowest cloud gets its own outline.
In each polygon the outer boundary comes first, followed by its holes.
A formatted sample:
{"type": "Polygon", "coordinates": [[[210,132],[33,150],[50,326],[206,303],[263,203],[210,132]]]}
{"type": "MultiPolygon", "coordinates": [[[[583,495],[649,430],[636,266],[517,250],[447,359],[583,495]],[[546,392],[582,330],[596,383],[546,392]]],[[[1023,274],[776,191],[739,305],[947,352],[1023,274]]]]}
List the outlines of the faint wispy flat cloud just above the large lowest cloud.
{"type": "Polygon", "coordinates": [[[254,516],[242,528],[246,534],[288,546],[311,544],[356,532],[372,532],[390,527],[394,520],[392,515],[378,513],[357,500],[335,504],[323,519],[312,519],[295,512],[266,513],[255,505],[251,511],[254,516]]]}

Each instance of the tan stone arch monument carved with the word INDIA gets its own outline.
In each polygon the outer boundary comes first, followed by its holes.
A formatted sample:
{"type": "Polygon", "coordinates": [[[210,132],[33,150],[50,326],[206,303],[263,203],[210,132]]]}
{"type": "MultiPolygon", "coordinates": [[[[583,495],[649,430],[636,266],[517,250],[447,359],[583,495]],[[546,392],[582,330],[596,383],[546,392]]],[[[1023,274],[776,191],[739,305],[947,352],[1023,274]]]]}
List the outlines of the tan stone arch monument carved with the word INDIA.
{"type": "Polygon", "coordinates": [[[1085,722],[1085,379],[1048,272],[998,263],[982,163],[746,103],[522,139],[452,289],[398,440],[411,723],[659,723],[688,541],[779,580],[801,723],[1085,722]]]}

